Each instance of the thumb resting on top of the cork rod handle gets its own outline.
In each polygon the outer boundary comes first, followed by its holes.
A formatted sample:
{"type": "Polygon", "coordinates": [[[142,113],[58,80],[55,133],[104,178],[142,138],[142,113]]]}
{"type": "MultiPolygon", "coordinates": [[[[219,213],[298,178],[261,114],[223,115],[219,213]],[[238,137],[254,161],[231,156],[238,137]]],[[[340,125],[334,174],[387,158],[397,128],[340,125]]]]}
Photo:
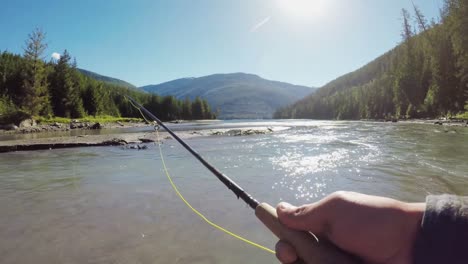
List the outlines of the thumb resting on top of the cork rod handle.
{"type": "Polygon", "coordinates": [[[326,230],[327,218],[318,204],[306,204],[300,207],[288,203],[280,203],[276,207],[279,221],[285,226],[314,234],[322,234],[326,230]]]}

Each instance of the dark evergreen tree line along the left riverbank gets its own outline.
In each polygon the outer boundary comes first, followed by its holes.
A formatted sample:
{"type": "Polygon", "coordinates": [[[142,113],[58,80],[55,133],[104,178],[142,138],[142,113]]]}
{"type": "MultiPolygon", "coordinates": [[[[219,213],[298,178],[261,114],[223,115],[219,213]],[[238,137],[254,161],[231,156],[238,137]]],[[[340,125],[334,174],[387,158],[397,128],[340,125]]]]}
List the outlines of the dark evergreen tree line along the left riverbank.
{"type": "Polygon", "coordinates": [[[24,54],[0,52],[0,123],[30,117],[140,117],[124,95],[130,95],[162,120],[213,119],[206,100],[158,96],[82,74],[67,50],[46,62],[45,33],[34,30],[24,54]]]}

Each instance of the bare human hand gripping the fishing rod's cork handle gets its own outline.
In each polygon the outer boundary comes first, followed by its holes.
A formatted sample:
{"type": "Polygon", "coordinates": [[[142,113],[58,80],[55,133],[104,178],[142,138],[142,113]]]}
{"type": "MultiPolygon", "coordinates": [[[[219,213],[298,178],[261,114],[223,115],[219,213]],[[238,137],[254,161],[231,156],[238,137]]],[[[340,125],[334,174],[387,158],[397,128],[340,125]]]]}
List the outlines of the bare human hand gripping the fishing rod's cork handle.
{"type": "MultiPolygon", "coordinates": [[[[310,231],[342,250],[373,264],[410,264],[426,205],[352,192],[336,192],[317,203],[276,210],[285,226],[310,231]]],[[[276,244],[282,263],[297,260],[295,249],[276,244]]],[[[309,263],[304,259],[305,263],[309,263]]]]}

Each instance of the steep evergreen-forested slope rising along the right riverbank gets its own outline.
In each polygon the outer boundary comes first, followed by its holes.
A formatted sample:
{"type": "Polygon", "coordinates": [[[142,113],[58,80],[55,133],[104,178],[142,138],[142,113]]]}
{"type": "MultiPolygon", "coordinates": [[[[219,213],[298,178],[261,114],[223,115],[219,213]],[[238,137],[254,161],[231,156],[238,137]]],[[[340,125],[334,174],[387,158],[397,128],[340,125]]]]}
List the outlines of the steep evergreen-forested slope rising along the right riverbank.
{"type": "Polygon", "coordinates": [[[438,21],[402,10],[402,43],[275,118],[384,119],[468,111],[468,0],[445,0],[438,21]]]}

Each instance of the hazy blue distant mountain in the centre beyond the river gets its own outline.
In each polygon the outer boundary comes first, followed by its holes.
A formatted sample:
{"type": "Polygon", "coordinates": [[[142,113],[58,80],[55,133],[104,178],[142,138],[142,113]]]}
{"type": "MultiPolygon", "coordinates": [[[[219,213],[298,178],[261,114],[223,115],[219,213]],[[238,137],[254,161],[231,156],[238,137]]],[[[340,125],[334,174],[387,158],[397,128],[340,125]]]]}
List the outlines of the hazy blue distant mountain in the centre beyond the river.
{"type": "Polygon", "coordinates": [[[200,96],[214,110],[219,110],[221,119],[272,118],[276,109],[315,91],[315,88],[265,80],[246,73],[183,78],[140,89],[178,99],[200,96]]]}

